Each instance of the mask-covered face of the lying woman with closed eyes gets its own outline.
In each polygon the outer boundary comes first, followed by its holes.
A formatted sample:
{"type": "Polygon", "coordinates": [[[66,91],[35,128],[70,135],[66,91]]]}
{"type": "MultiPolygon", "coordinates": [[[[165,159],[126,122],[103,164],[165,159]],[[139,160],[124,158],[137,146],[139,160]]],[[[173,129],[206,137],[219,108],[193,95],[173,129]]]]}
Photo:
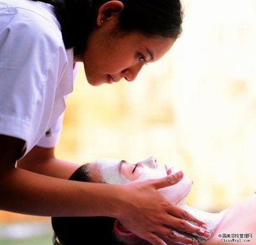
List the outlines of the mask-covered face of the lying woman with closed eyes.
{"type": "MultiPolygon", "coordinates": [[[[166,165],[157,165],[154,157],[147,158],[136,164],[118,159],[101,159],[90,165],[92,168],[92,181],[109,184],[127,184],[145,179],[157,179],[177,172],[174,168],[168,168],[166,165]]],[[[159,189],[159,192],[173,204],[178,204],[187,197],[191,185],[191,180],[184,176],[174,186],[159,189]]]]}

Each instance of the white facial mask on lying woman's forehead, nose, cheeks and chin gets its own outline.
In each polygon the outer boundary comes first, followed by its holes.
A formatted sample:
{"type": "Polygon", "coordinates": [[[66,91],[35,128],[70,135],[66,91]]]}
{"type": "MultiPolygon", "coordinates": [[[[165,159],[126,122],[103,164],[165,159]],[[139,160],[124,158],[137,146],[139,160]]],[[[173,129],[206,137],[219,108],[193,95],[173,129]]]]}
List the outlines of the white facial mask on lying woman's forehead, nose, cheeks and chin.
{"type": "MultiPolygon", "coordinates": [[[[102,175],[104,182],[109,184],[127,184],[131,182],[126,179],[125,176],[120,173],[118,163],[122,160],[117,159],[100,159],[97,160],[97,165],[102,175]]],[[[140,164],[143,166],[145,171],[135,181],[143,181],[145,179],[159,179],[166,177],[166,168],[163,165],[157,165],[152,161],[152,158],[141,161],[140,164]],[[151,161],[150,161],[151,160],[151,161]]],[[[172,173],[177,170],[172,168],[172,173]]],[[[191,180],[184,176],[183,179],[173,186],[159,189],[159,192],[164,195],[173,204],[178,204],[184,198],[187,197],[191,189],[191,180]]]]}

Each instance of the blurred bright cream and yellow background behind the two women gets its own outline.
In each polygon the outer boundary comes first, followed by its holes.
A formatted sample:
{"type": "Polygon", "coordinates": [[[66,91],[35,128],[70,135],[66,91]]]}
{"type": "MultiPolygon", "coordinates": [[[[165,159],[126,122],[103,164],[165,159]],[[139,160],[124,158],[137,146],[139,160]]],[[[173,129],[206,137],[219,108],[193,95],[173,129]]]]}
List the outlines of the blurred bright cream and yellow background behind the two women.
{"type": "MultiPolygon", "coordinates": [[[[256,1],[183,3],[182,36],[136,81],[92,87],[81,66],[56,154],[155,156],[193,180],[189,204],[215,212],[256,191],[256,1]]],[[[49,218],[0,212],[0,244],[29,242],[51,244],[49,218]]]]}

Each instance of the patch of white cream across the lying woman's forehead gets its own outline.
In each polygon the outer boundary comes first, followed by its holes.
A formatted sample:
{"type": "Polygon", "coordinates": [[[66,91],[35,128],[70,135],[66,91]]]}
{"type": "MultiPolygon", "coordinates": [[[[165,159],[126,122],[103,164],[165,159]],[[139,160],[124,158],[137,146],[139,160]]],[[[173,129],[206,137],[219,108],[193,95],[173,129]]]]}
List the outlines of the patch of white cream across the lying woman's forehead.
{"type": "Polygon", "coordinates": [[[102,158],[97,160],[97,165],[104,182],[108,184],[127,184],[131,182],[120,173],[120,161],[122,160],[111,158],[102,158]]]}

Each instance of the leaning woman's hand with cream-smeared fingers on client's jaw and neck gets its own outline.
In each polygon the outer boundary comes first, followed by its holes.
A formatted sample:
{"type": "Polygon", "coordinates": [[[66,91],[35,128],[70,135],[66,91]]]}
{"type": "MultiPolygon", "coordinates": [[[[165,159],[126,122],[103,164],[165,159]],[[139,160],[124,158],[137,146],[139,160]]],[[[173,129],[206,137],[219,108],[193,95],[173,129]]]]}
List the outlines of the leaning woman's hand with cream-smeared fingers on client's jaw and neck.
{"type": "MultiPolygon", "coordinates": [[[[198,244],[196,240],[189,239],[177,231],[197,234],[203,238],[209,234],[205,230],[205,223],[171,204],[157,191],[176,184],[182,177],[182,172],[177,172],[161,179],[124,185],[123,202],[119,203],[120,213],[116,218],[128,230],[154,245],[166,244],[159,237],[174,244],[198,244]]],[[[205,240],[208,238],[209,235],[205,240]]]]}

